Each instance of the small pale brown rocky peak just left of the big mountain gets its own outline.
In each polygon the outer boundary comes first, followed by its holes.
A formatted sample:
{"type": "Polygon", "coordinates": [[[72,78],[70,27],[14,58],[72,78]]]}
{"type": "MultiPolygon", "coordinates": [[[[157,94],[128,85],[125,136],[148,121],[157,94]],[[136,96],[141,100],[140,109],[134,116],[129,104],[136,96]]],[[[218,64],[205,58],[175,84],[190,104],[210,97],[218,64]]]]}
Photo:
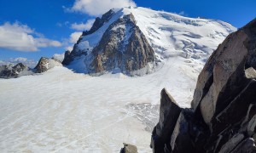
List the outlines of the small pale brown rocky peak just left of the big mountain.
{"type": "Polygon", "coordinates": [[[49,69],[55,66],[61,66],[61,62],[57,59],[48,59],[48,58],[42,57],[38,61],[38,65],[36,65],[36,67],[34,68],[34,71],[36,73],[43,73],[44,71],[48,71],[49,69]]]}

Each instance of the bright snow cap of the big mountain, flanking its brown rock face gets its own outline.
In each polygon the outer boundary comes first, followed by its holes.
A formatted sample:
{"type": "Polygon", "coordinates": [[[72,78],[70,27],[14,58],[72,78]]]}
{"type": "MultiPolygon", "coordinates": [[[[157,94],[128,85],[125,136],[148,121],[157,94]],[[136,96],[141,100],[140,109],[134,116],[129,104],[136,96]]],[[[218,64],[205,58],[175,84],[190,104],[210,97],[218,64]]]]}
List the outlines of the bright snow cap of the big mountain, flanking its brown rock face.
{"type": "Polygon", "coordinates": [[[236,31],[236,27],[221,20],[194,19],[149,8],[130,7],[115,11],[98,31],[82,37],[79,42],[81,50],[94,48],[108,26],[126,14],[134,15],[137,26],[154,48],[158,59],[180,55],[205,60],[230,32],[236,31]]]}

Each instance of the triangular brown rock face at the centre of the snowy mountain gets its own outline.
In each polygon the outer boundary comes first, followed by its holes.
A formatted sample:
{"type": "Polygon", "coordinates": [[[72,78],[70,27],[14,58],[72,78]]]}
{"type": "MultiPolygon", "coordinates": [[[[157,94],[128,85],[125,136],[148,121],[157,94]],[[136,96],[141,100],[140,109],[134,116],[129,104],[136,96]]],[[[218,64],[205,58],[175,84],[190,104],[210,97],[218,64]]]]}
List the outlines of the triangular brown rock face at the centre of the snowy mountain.
{"type": "Polygon", "coordinates": [[[90,72],[119,71],[130,74],[154,62],[154,50],[143,32],[136,26],[132,14],[115,21],[92,50],[90,72]]]}

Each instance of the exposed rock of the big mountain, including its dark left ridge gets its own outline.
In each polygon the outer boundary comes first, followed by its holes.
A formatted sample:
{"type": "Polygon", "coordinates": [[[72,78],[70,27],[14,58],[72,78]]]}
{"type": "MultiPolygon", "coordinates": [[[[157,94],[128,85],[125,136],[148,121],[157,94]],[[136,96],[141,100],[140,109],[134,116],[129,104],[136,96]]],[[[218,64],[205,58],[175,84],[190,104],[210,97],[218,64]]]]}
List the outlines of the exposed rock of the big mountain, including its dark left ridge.
{"type": "MultiPolygon", "coordinates": [[[[112,16],[113,10],[103,14],[102,19],[96,19],[92,29],[84,32],[83,36],[96,31],[112,16]]],[[[91,75],[117,71],[134,76],[144,75],[154,70],[154,49],[136,25],[132,14],[124,15],[108,26],[100,42],[94,48],[79,48],[82,37],[74,45],[72,52],[65,53],[63,65],[69,65],[73,60],[83,57],[84,72],[91,75]],[[141,69],[143,71],[138,71],[141,69]]]]}

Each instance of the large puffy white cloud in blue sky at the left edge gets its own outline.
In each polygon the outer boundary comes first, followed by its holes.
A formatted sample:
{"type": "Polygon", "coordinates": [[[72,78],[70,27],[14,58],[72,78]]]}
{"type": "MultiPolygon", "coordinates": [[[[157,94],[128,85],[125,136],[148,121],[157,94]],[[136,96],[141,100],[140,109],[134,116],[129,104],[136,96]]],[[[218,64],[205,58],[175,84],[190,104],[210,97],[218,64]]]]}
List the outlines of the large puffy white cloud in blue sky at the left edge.
{"type": "Polygon", "coordinates": [[[0,26],[0,48],[33,52],[38,51],[38,48],[60,46],[61,42],[47,39],[42,34],[19,22],[14,24],[6,22],[0,26]]]}

